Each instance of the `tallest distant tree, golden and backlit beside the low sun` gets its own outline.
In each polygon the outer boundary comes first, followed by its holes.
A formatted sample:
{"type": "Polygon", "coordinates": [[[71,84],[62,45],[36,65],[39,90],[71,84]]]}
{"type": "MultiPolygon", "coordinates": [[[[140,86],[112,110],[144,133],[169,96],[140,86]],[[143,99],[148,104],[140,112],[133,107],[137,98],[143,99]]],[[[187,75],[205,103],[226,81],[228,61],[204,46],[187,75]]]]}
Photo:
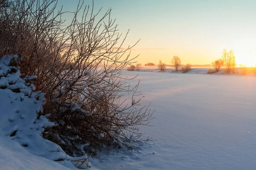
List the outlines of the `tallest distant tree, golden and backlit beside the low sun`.
{"type": "Polygon", "coordinates": [[[222,59],[226,66],[227,73],[230,73],[231,68],[236,67],[236,57],[234,55],[234,51],[233,50],[227,51],[227,49],[224,49],[222,51],[222,59]]]}

